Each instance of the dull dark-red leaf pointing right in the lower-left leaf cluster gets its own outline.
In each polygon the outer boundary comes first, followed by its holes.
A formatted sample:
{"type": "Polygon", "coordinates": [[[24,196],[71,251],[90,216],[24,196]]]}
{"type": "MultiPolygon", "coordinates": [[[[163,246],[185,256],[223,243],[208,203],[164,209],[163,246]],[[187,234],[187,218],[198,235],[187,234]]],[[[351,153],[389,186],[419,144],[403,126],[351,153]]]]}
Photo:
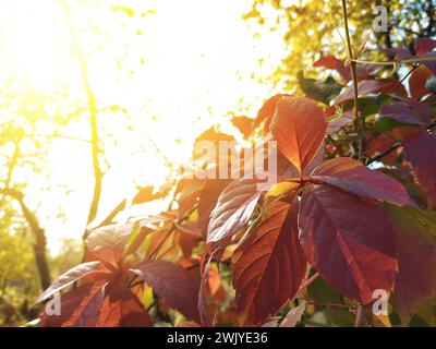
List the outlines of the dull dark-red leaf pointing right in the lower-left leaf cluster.
{"type": "Polygon", "coordinates": [[[186,317],[199,322],[198,284],[186,269],[174,263],[152,261],[138,263],[130,270],[147,282],[168,304],[186,317]]]}

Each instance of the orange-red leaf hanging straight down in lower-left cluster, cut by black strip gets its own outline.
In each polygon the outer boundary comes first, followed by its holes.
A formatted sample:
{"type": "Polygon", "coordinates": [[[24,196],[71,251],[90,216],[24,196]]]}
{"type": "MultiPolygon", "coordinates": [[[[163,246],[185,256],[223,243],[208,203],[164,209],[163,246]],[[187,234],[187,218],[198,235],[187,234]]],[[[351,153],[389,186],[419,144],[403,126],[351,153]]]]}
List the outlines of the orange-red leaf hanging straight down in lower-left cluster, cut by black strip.
{"type": "Polygon", "coordinates": [[[149,327],[152,318],[137,297],[117,278],[105,289],[97,327],[149,327]]]}

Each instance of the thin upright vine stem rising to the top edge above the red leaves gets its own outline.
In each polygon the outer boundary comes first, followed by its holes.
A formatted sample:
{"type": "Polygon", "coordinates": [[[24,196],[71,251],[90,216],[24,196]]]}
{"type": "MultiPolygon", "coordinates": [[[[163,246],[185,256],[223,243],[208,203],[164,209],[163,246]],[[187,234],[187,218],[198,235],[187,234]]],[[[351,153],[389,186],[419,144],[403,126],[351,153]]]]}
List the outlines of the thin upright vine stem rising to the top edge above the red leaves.
{"type": "Polygon", "coordinates": [[[343,26],[346,29],[346,41],[347,41],[347,51],[348,51],[348,59],[350,61],[351,67],[351,79],[353,81],[353,95],[354,95],[354,129],[358,135],[360,134],[360,144],[359,144],[359,160],[362,159],[363,153],[363,143],[365,136],[365,122],[361,120],[359,116],[359,88],[358,88],[358,70],[356,70],[356,62],[354,60],[353,50],[351,48],[351,39],[350,39],[350,29],[348,25],[348,11],[347,11],[347,1],[342,0],[342,14],[343,14],[343,26]],[[360,125],[362,124],[362,128],[360,125]]]}

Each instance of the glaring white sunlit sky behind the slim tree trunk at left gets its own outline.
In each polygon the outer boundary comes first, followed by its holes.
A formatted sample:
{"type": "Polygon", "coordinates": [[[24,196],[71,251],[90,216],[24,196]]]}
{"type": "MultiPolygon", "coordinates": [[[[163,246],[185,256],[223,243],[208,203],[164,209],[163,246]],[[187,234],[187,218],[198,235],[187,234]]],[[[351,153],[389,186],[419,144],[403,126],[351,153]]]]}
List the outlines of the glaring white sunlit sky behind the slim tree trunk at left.
{"type": "MultiPolygon", "coordinates": [[[[241,20],[251,0],[66,3],[110,164],[100,213],[131,195],[136,184],[161,184],[168,172],[162,154],[174,164],[187,159],[194,137],[211,124],[226,125],[229,111],[254,116],[271,93],[262,81],[286,56],[280,31],[258,32],[241,20]],[[113,11],[116,5],[133,13],[113,11]]],[[[86,108],[61,1],[1,0],[0,9],[0,122],[20,113],[11,99],[34,100],[43,107],[31,112],[45,118],[86,108]],[[48,101],[40,103],[39,94],[48,101]]],[[[45,125],[40,133],[50,133],[45,125]]],[[[89,139],[86,110],[61,132],[89,139]]],[[[86,224],[93,191],[89,146],[56,139],[48,171],[47,178],[22,168],[14,178],[28,183],[27,203],[56,253],[64,238],[78,239],[86,224]]]]}

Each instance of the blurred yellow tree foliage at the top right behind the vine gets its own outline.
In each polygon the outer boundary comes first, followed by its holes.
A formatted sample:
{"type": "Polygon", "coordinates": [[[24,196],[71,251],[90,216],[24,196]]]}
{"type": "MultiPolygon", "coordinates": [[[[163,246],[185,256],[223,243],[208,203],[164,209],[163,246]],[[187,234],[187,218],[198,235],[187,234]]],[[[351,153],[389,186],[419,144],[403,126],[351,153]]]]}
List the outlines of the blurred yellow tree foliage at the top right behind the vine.
{"type": "MultiPolygon", "coordinates": [[[[416,37],[436,35],[436,4],[432,0],[359,0],[348,1],[349,23],[354,48],[363,44],[370,58],[380,58],[374,50],[409,47],[416,37]],[[376,5],[384,5],[388,14],[388,31],[376,33],[373,21],[376,5]]],[[[249,22],[278,32],[283,26],[287,56],[270,81],[286,91],[298,89],[302,67],[310,68],[323,56],[335,55],[347,59],[342,32],[342,9],[339,0],[255,0],[244,14],[249,22]]],[[[257,34],[262,36],[261,33],[257,34]]]]}

